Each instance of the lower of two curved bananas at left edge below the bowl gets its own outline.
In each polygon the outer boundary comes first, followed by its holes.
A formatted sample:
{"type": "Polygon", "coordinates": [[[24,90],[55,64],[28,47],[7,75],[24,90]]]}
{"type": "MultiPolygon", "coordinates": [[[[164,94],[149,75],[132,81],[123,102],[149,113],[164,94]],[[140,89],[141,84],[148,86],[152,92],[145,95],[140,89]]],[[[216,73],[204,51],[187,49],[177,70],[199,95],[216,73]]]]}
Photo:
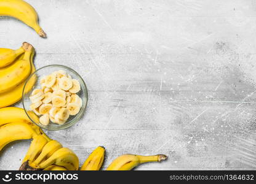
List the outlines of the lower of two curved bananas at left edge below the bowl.
{"type": "Polygon", "coordinates": [[[0,151],[10,142],[22,139],[31,139],[37,134],[26,123],[8,123],[0,127],[0,151]]]}

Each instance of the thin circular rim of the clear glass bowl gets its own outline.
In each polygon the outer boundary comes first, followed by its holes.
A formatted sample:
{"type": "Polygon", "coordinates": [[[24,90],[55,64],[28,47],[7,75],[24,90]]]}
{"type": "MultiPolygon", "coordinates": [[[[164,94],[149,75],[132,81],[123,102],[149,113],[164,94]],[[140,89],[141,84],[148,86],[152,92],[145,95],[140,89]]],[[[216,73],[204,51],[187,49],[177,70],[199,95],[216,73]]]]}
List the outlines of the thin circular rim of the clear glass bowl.
{"type": "MultiPolygon", "coordinates": [[[[41,69],[44,69],[44,68],[46,68],[46,67],[62,67],[62,68],[65,68],[65,69],[67,69],[67,70],[69,70],[69,71],[72,71],[72,72],[74,72],[74,74],[78,75],[78,77],[82,80],[82,83],[83,83],[83,85],[84,85],[84,87],[85,87],[85,91],[84,91],[85,94],[84,94],[84,96],[86,97],[86,104],[84,105],[83,112],[86,110],[87,103],[88,103],[88,90],[87,90],[86,83],[84,82],[84,79],[82,79],[81,75],[79,75],[78,72],[74,71],[74,69],[71,69],[71,67],[64,66],[64,65],[62,65],[62,64],[50,64],[50,65],[46,65],[46,66],[40,67],[39,69],[36,69],[36,71],[34,71],[33,74],[30,74],[30,76],[26,79],[25,84],[24,84],[24,86],[23,86],[23,90],[22,90],[22,105],[23,105],[23,109],[25,110],[26,116],[32,121],[32,123],[34,123],[34,125],[39,126],[39,128],[47,129],[47,130],[49,130],[49,131],[58,131],[58,130],[61,130],[61,129],[69,128],[70,126],[72,126],[72,125],[74,125],[75,123],[77,123],[78,120],[77,120],[77,121],[74,121],[74,123],[70,123],[70,124],[67,125],[67,126],[63,126],[63,127],[60,126],[60,128],[57,128],[57,129],[45,128],[45,127],[42,127],[42,126],[38,125],[38,123],[34,122],[34,121],[30,118],[30,115],[28,115],[28,112],[27,112],[27,110],[26,110],[26,108],[25,108],[24,98],[23,98],[23,97],[24,97],[24,91],[25,91],[25,86],[26,86],[26,84],[27,84],[28,81],[31,79],[31,77],[32,77],[34,74],[36,74],[36,72],[38,72],[38,71],[40,71],[41,69]]],[[[82,115],[82,113],[81,113],[81,115],[82,115]]],[[[80,115],[79,117],[81,117],[81,115],[80,115]]],[[[65,125],[65,123],[64,123],[63,125],[65,125]]]]}

